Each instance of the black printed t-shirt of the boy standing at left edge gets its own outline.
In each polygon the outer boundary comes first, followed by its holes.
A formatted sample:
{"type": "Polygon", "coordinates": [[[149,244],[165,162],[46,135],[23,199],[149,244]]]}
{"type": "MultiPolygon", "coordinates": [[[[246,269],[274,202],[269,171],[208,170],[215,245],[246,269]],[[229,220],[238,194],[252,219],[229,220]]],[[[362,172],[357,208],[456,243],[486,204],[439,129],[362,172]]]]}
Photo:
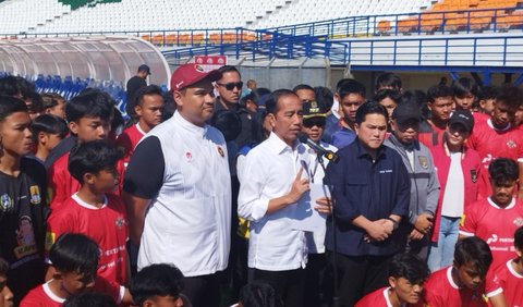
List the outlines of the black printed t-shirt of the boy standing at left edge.
{"type": "Polygon", "coordinates": [[[21,172],[0,172],[0,256],[10,263],[8,285],[15,303],[44,281],[46,219],[46,170],[22,158],[21,172]]]}

